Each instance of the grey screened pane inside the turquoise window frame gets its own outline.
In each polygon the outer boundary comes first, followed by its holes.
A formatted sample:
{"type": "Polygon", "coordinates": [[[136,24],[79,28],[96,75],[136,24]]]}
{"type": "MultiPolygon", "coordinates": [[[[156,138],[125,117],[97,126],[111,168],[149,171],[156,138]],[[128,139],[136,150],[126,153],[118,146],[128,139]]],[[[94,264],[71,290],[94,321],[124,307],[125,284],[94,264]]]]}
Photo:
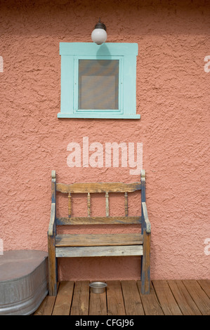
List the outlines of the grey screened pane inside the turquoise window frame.
{"type": "Polygon", "coordinates": [[[79,60],[79,109],[117,110],[119,60],[79,60]]]}

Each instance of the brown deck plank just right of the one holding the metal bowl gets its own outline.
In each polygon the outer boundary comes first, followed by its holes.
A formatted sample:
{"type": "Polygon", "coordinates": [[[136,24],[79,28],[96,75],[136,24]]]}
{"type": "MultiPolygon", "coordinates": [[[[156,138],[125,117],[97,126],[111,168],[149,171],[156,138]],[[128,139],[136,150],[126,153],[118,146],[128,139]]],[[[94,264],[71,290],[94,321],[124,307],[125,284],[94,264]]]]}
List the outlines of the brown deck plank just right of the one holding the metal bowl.
{"type": "Polygon", "coordinates": [[[126,315],[120,281],[107,281],[107,315],[126,315]]]}

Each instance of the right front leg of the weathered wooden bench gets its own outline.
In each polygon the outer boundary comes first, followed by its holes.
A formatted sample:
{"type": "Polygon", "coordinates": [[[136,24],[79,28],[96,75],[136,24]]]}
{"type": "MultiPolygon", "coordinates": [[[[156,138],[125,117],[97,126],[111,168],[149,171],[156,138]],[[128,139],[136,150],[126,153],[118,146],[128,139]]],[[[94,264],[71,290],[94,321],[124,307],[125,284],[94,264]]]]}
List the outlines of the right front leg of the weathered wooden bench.
{"type": "Polygon", "coordinates": [[[151,232],[143,231],[143,256],[141,262],[141,293],[150,293],[150,238],[151,232]]]}

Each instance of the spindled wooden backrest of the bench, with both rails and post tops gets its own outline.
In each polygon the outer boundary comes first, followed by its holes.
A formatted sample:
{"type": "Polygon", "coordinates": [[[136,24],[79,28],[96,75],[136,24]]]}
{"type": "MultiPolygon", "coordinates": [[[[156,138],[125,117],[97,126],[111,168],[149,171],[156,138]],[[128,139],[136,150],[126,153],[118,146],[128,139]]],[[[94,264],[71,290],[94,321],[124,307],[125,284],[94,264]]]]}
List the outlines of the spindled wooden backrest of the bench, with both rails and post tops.
{"type": "Polygon", "coordinates": [[[56,192],[68,194],[68,216],[56,218],[56,225],[99,225],[99,224],[139,224],[142,223],[141,216],[129,216],[128,193],[141,192],[141,202],[145,202],[145,171],[141,171],[141,180],[136,183],[73,183],[66,185],[56,183],[56,173],[52,171],[51,199],[56,202],[56,192]],[[124,193],[124,216],[110,216],[109,193],[124,193]],[[72,194],[87,194],[87,216],[72,217],[72,194]],[[91,216],[91,193],[105,194],[105,217],[91,216]]]}

